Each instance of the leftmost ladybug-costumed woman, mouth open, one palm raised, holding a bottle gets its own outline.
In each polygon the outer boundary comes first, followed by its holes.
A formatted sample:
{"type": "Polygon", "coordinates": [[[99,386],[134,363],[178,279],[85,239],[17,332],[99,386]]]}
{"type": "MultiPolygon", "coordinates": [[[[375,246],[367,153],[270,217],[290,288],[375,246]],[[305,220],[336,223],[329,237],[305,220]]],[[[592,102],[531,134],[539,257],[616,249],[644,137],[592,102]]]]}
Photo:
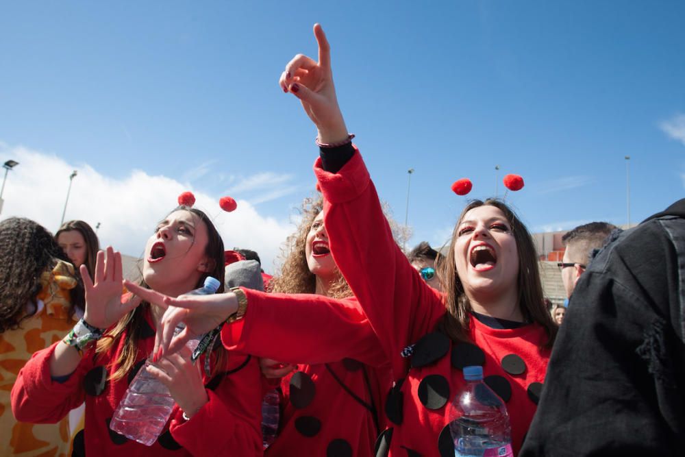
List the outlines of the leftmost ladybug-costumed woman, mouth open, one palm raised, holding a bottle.
{"type": "MultiPolygon", "coordinates": [[[[223,291],[221,236],[205,213],[179,206],[147,241],[142,286],[177,297],[215,277],[223,291]]],[[[199,363],[189,351],[160,357],[144,367],[164,310],[122,297],[121,254],[97,254],[95,282],[81,267],[86,286],[83,319],[62,341],[42,349],[19,372],[12,412],[20,421],[60,421],[86,401],[86,421],[75,437],[78,455],[262,455],[261,374],[250,356],[227,354],[218,345],[199,363]],[[206,360],[209,358],[210,360],[206,360]],[[112,432],[108,423],[138,369],[169,388],[176,402],[168,429],[151,447],[112,432]],[[183,448],[183,449],[182,449],[183,448]]]]}

